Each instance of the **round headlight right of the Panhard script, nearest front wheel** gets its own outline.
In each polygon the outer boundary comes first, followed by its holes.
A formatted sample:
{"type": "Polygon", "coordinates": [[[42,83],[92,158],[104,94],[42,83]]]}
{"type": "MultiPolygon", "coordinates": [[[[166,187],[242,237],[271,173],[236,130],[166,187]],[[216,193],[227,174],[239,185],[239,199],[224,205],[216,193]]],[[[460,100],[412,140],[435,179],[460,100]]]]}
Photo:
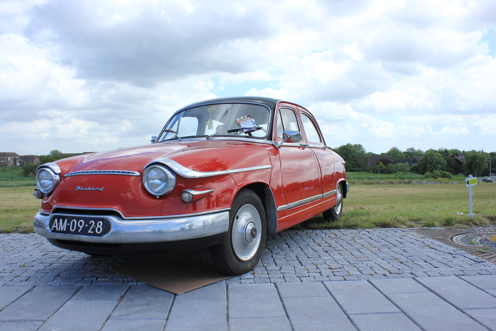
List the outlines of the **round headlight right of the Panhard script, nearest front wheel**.
{"type": "Polygon", "coordinates": [[[176,175],[166,167],[154,164],[143,171],[143,184],[146,191],[158,198],[174,190],[176,175]]]}

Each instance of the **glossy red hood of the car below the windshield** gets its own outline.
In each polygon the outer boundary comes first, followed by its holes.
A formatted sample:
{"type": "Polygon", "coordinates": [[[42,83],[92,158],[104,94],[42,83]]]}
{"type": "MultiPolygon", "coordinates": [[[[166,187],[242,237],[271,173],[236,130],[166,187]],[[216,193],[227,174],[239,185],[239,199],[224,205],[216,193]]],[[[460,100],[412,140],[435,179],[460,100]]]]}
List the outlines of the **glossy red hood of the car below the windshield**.
{"type": "Polygon", "coordinates": [[[172,159],[196,171],[219,171],[268,165],[268,153],[264,149],[264,144],[256,142],[176,141],[78,155],[56,163],[62,175],[84,170],[130,170],[142,174],[147,164],[160,158],[172,159]]]}

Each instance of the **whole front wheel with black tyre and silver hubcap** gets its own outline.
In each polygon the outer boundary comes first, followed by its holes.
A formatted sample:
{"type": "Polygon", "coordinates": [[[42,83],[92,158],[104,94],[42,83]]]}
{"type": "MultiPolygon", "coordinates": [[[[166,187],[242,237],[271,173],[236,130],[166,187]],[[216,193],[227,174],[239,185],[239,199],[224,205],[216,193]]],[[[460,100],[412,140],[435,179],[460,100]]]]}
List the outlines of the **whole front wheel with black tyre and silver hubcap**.
{"type": "Polygon", "coordinates": [[[229,231],[223,242],[210,247],[212,263],[231,275],[250,271],[260,260],[266,234],[262,201],[253,191],[242,189],[229,211],[229,231]]]}

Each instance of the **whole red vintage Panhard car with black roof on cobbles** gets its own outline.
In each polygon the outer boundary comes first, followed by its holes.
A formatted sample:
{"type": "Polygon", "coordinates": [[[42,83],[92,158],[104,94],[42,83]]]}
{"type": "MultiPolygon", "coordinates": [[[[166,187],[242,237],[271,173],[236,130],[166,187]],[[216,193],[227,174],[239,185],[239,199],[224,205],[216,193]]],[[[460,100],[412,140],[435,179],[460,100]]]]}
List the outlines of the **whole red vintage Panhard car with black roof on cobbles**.
{"type": "Polygon", "coordinates": [[[294,103],[218,98],[177,111],[152,143],[41,165],[34,230],[89,255],[209,247],[228,274],[251,270],[267,234],[323,213],[349,190],[343,159],[294,103]]]}

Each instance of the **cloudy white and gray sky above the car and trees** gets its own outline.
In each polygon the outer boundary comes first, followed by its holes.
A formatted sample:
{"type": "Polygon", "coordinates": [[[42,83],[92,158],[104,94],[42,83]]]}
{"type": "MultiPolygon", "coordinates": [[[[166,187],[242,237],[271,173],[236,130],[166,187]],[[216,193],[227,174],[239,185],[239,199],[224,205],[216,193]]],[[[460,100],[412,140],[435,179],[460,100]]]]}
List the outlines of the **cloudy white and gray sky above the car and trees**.
{"type": "Polygon", "coordinates": [[[496,1],[0,1],[0,151],[150,143],[179,108],[256,95],[327,145],[496,150],[496,1]]]}

